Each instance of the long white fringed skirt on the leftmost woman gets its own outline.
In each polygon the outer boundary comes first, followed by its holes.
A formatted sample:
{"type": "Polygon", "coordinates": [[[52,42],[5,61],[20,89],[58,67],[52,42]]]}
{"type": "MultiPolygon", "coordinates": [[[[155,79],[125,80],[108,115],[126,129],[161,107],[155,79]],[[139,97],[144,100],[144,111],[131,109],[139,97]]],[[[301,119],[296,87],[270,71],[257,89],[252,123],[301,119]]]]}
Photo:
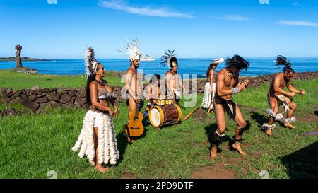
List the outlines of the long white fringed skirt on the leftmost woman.
{"type": "Polygon", "coordinates": [[[114,133],[114,124],[112,117],[108,113],[96,112],[88,110],[84,117],[81,134],[75,146],[71,148],[73,151],[80,149],[78,156],[88,157],[88,160],[94,161],[94,130],[98,127],[98,163],[116,165],[119,160],[119,151],[117,148],[117,140],[114,133]]]}

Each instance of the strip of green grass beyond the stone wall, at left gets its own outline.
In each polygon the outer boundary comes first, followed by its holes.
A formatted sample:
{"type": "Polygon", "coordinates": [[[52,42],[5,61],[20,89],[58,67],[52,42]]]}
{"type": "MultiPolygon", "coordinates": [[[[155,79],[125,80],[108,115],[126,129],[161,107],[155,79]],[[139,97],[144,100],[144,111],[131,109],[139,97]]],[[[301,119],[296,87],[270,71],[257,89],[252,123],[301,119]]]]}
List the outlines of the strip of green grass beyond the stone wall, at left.
{"type": "MultiPolygon", "coordinates": [[[[111,72],[106,72],[105,80],[112,86],[122,86],[121,78],[112,76],[111,72]]],[[[0,88],[8,87],[13,89],[28,89],[33,86],[40,88],[78,88],[86,86],[86,77],[84,75],[59,76],[47,74],[23,74],[11,70],[0,70],[0,88]]]]}

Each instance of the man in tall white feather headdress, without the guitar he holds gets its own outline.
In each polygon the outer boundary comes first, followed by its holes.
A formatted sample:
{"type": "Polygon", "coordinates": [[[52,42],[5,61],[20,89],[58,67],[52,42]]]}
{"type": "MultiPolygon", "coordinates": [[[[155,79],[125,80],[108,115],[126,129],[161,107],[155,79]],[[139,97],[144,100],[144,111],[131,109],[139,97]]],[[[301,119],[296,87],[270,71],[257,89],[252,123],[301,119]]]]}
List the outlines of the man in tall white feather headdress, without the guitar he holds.
{"type": "MultiPolygon", "coordinates": [[[[131,40],[127,45],[124,46],[126,54],[129,54],[130,66],[126,70],[124,75],[126,92],[129,98],[126,100],[129,105],[129,113],[135,112],[136,108],[141,109],[143,107],[143,85],[142,85],[142,74],[138,72],[139,62],[141,59],[141,50],[139,49],[138,39],[131,40]]],[[[120,52],[120,51],[119,51],[120,52]]],[[[128,122],[127,122],[128,124],[128,122]]],[[[126,132],[128,133],[128,132],[126,132]]],[[[131,136],[127,136],[129,143],[134,142],[131,136]]]]}

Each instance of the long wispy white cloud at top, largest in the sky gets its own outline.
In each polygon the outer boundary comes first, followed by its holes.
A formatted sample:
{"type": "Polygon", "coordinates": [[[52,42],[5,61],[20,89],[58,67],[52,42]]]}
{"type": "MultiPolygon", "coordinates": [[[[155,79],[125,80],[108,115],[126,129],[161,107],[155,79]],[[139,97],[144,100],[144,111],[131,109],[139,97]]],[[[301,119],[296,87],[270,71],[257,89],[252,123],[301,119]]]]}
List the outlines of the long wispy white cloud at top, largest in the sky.
{"type": "Polygon", "coordinates": [[[114,10],[124,11],[126,13],[137,14],[140,16],[157,16],[172,18],[192,18],[192,13],[179,13],[170,11],[168,8],[151,8],[150,6],[136,7],[129,6],[124,0],[100,1],[100,6],[114,10]]]}

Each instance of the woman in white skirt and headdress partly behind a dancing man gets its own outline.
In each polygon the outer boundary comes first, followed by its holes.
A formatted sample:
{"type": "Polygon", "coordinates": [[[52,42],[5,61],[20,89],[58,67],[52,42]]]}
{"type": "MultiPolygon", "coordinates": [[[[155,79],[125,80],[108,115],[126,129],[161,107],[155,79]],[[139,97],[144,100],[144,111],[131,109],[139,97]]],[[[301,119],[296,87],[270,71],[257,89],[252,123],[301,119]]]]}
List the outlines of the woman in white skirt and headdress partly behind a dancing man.
{"type": "Polygon", "coordinates": [[[214,111],[212,101],[216,94],[216,67],[218,67],[218,64],[222,62],[224,62],[223,58],[213,60],[206,71],[207,81],[204,86],[204,98],[201,105],[204,109],[208,109],[208,112],[211,112],[211,110],[214,111]]]}

